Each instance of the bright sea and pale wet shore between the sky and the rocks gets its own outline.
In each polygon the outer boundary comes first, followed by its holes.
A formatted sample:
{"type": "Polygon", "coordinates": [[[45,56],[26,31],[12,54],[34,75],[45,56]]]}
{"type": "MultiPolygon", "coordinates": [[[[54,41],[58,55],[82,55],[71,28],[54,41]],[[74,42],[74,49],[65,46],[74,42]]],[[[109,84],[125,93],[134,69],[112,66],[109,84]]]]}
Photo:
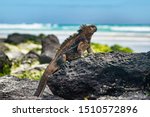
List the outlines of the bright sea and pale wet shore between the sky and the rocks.
{"type": "MultiPolygon", "coordinates": [[[[96,25],[98,30],[92,42],[132,48],[135,52],[150,51],[150,25],[96,25]]],[[[70,24],[0,24],[0,38],[12,33],[55,34],[60,42],[75,33],[80,25],[70,24]]]]}

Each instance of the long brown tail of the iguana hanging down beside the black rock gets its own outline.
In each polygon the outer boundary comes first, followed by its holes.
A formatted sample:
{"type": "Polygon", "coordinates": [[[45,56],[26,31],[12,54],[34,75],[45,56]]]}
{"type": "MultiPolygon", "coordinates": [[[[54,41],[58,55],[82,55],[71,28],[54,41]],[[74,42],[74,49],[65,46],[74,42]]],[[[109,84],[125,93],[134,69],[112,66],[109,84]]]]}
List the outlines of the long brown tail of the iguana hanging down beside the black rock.
{"type": "Polygon", "coordinates": [[[44,92],[44,89],[46,87],[47,81],[48,81],[48,77],[53,74],[54,72],[56,72],[59,69],[59,66],[57,65],[57,62],[54,60],[51,61],[51,63],[47,66],[40,82],[38,85],[38,88],[36,90],[36,92],[34,93],[34,96],[41,96],[44,92]]]}

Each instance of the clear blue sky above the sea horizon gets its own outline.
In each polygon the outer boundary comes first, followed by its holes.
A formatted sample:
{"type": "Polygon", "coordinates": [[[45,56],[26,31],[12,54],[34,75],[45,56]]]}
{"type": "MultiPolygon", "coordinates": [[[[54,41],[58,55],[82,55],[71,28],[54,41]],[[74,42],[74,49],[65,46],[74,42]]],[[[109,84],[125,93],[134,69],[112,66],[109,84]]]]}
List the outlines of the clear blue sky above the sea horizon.
{"type": "Polygon", "coordinates": [[[150,24],[150,0],[0,0],[0,23],[150,24]]]}

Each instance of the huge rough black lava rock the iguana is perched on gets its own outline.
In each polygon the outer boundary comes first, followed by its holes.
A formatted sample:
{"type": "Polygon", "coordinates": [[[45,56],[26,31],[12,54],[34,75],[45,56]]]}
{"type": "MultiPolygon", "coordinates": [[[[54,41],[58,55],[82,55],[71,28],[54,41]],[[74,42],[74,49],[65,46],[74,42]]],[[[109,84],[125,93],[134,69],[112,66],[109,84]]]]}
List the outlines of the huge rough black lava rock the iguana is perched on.
{"type": "Polygon", "coordinates": [[[67,64],[49,77],[64,99],[149,99],[149,53],[98,53],[67,64]]]}

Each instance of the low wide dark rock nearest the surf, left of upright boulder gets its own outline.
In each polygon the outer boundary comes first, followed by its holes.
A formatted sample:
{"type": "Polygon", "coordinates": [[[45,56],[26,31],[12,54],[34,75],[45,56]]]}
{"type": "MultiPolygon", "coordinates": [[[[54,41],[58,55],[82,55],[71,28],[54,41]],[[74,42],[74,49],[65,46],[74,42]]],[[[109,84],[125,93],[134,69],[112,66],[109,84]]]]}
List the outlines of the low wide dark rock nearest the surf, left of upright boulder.
{"type": "Polygon", "coordinates": [[[12,44],[20,44],[28,40],[35,42],[40,41],[40,39],[35,35],[13,33],[11,35],[8,35],[8,38],[5,42],[12,44]]]}

